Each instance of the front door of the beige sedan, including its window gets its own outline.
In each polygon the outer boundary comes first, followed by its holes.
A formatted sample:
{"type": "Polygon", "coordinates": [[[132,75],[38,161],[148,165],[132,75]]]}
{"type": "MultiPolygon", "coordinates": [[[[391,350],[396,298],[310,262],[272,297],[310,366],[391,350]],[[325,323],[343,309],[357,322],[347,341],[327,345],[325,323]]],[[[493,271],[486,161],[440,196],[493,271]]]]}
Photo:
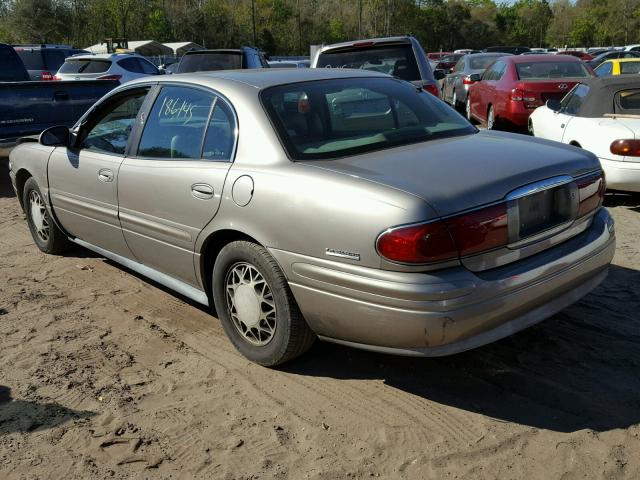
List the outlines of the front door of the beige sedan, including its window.
{"type": "Polygon", "coordinates": [[[56,148],[49,193],[71,235],[131,258],[118,220],[118,171],[149,87],[127,89],[98,105],[78,128],[76,146],[56,148]]]}

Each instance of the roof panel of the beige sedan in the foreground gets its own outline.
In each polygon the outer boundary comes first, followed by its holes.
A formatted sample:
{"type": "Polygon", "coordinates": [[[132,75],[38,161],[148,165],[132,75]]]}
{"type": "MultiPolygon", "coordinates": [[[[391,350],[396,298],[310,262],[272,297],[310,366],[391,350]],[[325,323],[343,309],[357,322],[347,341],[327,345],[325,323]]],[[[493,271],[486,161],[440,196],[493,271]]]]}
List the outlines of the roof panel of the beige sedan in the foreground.
{"type": "MultiPolygon", "coordinates": [[[[331,80],[340,78],[393,78],[390,75],[369,70],[348,68],[258,68],[247,70],[217,70],[214,72],[180,73],[176,75],[153,77],[153,82],[184,81],[194,84],[215,86],[217,80],[242,83],[253,88],[263,89],[290,83],[331,80]]],[[[144,79],[141,79],[144,80],[144,79]]],[[[141,80],[133,82],[140,83],[141,80]]],[[[147,80],[149,81],[149,80],[147,80]]],[[[131,84],[133,82],[128,82],[131,84]]]]}

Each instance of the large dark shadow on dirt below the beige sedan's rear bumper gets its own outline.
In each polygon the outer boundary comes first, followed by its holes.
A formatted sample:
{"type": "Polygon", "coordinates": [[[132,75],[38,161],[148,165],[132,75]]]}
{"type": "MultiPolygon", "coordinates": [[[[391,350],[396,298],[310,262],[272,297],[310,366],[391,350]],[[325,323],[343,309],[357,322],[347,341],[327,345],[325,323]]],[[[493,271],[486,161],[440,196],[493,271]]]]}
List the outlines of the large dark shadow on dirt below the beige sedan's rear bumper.
{"type": "Polygon", "coordinates": [[[380,379],[407,393],[501,421],[559,432],[640,422],[640,272],[612,266],[578,304],[485,347],[408,358],[317,342],[282,370],[380,379]]]}

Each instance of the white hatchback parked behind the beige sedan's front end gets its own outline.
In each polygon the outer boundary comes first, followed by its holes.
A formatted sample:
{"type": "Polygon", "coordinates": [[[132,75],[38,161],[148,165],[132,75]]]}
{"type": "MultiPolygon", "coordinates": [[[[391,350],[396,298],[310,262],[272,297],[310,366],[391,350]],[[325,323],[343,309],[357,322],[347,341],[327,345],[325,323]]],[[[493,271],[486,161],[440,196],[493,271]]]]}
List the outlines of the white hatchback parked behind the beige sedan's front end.
{"type": "Polygon", "coordinates": [[[158,67],[135,53],[89,53],[67,58],[54,79],[115,80],[126,83],[160,73],[158,67]]]}

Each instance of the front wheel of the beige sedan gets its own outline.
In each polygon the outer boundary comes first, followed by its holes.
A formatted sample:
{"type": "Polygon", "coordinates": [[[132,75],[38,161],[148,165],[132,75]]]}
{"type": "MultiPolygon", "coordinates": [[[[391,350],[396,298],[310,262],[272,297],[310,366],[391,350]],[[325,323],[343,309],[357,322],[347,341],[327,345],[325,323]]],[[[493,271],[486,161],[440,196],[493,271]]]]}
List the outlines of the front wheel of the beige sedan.
{"type": "Polygon", "coordinates": [[[57,255],[69,249],[71,242],[53,222],[44,196],[33,177],[24,184],[22,205],[27,215],[31,237],[42,252],[57,255]]]}

